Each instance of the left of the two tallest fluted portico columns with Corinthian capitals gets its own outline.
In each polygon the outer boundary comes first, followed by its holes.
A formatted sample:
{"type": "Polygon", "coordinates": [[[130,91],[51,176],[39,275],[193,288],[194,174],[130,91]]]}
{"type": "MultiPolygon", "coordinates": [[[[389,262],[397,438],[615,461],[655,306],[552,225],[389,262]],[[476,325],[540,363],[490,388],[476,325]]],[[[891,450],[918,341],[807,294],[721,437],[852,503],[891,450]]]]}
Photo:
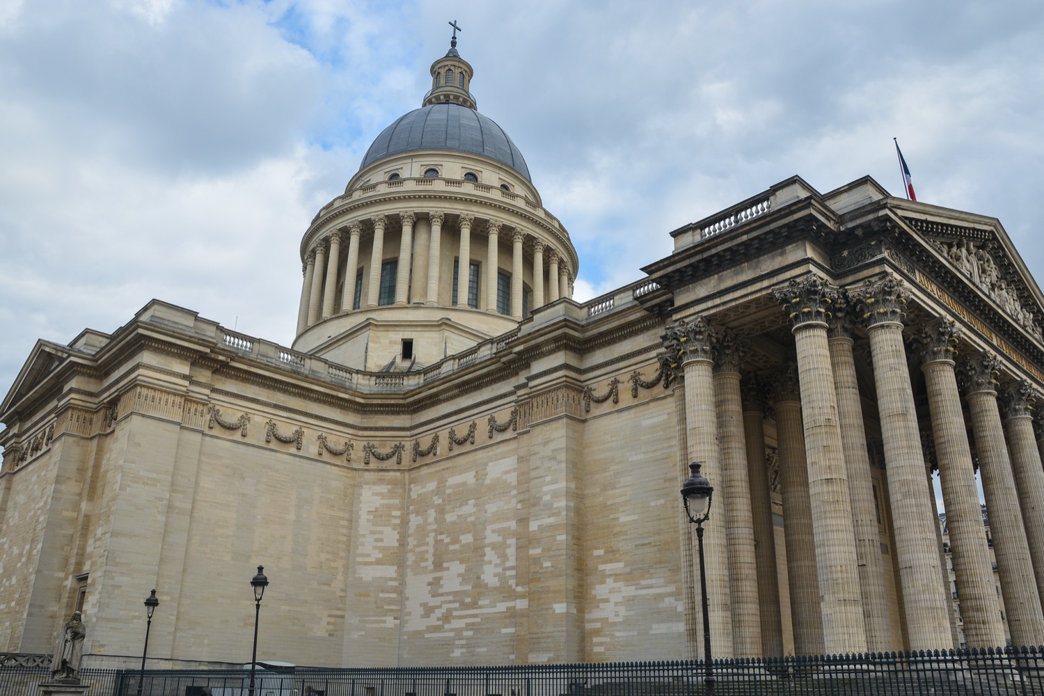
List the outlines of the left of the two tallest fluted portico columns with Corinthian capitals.
{"type": "Polygon", "coordinates": [[[831,654],[865,652],[859,560],[827,342],[827,318],[839,293],[823,279],[806,275],[776,288],[774,294],[785,306],[798,352],[823,646],[831,654]]]}

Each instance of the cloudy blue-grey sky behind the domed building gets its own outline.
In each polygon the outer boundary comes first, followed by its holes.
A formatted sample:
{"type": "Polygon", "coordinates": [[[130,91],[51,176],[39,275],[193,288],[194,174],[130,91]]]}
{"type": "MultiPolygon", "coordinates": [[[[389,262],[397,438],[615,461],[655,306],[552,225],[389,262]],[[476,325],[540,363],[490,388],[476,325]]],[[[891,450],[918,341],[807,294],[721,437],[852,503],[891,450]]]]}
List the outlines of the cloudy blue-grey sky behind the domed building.
{"type": "Polygon", "coordinates": [[[299,242],[457,20],[577,295],[800,174],[1001,219],[1044,279],[1044,3],[0,0],[0,390],[158,297],[289,344],[299,242]]]}

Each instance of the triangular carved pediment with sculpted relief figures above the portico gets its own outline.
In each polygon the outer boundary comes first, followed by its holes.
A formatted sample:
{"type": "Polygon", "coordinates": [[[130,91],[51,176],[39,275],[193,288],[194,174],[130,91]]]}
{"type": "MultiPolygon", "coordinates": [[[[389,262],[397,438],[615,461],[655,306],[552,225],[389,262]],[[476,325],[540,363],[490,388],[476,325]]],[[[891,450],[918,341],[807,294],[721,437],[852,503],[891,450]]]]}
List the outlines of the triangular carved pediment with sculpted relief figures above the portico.
{"type": "Polygon", "coordinates": [[[928,241],[979,292],[992,299],[1011,320],[1038,341],[1044,342],[1044,296],[1029,274],[1011,238],[1000,223],[982,218],[944,221],[905,217],[907,223],[928,241]]]}

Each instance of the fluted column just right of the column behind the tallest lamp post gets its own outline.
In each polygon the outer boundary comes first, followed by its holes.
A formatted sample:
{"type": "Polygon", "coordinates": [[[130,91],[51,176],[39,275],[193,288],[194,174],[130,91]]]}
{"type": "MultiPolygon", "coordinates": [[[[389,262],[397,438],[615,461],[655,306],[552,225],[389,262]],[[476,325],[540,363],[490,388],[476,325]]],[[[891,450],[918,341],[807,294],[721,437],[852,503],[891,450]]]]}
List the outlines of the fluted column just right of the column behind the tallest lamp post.
{"type": "MultiPolygon", "coordinates": [[[[758,605],[758,565],[754,551],[754,520],[746,469],[740,368],[750,341],[729,330],[712,334],[714,410],[717,412],[718,453],[726,505],[726,544],[732,600],[733,657],[761,655],[761,614],[758,605]]],[[[717,502],[717,501],[715,501],[717,502]]]]}

